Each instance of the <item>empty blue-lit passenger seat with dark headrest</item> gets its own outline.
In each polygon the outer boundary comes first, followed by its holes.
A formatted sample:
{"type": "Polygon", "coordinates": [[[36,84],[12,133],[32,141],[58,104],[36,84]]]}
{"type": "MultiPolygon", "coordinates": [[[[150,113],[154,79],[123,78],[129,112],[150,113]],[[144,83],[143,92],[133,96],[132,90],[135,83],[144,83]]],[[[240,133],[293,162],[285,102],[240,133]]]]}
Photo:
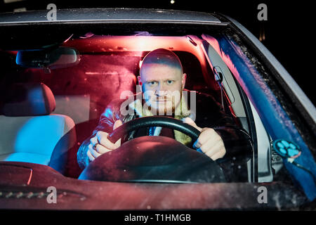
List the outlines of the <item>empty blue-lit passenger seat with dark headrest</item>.
{"type": "Polygon", "coordinates": [[[13,84],[2,101],[0,161],[48,165],[64,173],[76,131],[72,118],[51,114],[55,110],[51,89],[42,83],[13,84]]]}

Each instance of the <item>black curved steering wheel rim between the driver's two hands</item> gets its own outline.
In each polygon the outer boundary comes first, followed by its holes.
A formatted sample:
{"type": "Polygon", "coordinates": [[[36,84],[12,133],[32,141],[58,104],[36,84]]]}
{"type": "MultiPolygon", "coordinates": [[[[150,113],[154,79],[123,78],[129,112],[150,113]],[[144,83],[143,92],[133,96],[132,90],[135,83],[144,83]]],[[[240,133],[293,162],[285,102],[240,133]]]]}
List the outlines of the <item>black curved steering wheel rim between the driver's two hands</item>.
{"type": "Polygon", "coordinates": [[[119,139],[124,137],[125,134],[134,131],[136,129],[144,127],[166,127],[170,129],[175,129],[177,131],[190,136],[192,143],[197,141],[199,134],[201,133],[195,127],[192,127],[190,124],[184,123],[181,120],[177,120],[173,117],[164,117],[164,116],[148,116],[148,117],[139,117],[135,120],[131,120],[122,124],[117,129],[114,129],[111,134],[107,137],[112,143],[116,143],[119,139]]]}

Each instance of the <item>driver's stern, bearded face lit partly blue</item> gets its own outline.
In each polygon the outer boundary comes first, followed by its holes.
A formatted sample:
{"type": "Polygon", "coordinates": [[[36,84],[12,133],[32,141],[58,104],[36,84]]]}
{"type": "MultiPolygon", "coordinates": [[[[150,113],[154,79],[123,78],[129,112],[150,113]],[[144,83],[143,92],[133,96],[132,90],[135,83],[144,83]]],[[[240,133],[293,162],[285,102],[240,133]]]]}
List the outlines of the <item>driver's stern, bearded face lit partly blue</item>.
{"type": "Polygon", "coordinates": [[[186,75],[180,68],[148,63],[142,66],[138,82],[146,105],[156,115],[171,115],[180,103],[186,75]]]}

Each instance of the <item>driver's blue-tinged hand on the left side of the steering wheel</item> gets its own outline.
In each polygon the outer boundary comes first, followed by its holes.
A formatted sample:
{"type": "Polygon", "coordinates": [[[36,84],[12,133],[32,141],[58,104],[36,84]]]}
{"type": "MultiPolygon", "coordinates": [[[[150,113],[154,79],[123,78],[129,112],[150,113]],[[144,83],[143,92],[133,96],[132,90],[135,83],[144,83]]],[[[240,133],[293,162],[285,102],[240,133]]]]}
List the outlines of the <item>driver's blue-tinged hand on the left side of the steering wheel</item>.
{"type": "MultiPolygon", "coordinates": [[[[117,129],[117,127],[121,126],[121,120],[117,120],[114,122],[113,130],[117,129]]],[[[114,150],[121,146],[121,139],[119,139],[116,143],[112,143],[107,136],[109,134],[107,132],[98,131],[96,136],[90,139],[90,143],[88,145],[88,159],[90,162],[98,158],[103,153],[107,153],[110,150],[114,150]]]]}

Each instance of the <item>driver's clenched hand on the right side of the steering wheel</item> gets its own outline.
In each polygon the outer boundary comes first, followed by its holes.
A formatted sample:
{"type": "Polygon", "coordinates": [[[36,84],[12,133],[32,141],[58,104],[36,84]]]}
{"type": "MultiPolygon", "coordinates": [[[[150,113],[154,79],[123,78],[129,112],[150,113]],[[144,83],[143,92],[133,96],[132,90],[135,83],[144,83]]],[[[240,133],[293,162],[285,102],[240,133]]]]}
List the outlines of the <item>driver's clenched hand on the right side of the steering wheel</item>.
{"type": "Polygon", "coordinates": [[[201,131],[201,134],[199,134],[199,138],[195,141],[193,147],[202,150],[202,152],[212,160],[223,158],[226,153],[224,142],[214,129],[209,127],[198,127],[190,117],[185,117],[183,122],[190,124],[192,127],[201,131]]]}

